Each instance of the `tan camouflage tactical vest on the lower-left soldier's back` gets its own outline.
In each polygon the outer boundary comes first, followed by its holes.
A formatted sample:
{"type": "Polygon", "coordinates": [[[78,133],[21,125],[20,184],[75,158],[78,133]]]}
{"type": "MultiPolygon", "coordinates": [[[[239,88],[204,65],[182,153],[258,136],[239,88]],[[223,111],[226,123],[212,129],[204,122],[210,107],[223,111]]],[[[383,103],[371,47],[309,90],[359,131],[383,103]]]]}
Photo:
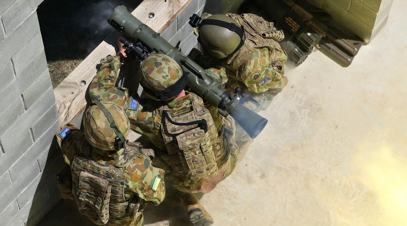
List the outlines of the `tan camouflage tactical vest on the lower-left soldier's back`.
{"type": "Polygon", "coordinates": [[[127,216],[134,220],[147,205],[135,193],[125,191],[123,170],[136,155],[128,148],[122,155],[124,160],[114,166],[101,166],[90,156],[75,156],[73,160],[72,195],[79,211],[97,224],[127,216]]]}

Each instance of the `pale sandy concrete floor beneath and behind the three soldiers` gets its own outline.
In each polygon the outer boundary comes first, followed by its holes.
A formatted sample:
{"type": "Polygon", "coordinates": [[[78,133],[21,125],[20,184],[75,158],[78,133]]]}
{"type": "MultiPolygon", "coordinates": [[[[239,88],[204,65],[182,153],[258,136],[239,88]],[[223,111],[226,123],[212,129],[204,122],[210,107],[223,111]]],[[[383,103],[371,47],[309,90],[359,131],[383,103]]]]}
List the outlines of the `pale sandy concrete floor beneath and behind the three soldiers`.
{"type": "MultiPolygon", "coordinates": [[[[201,198],[215,226],[407,225],[406,10],[394,0],[348,68],[320,52],[286,64],[288,85],[260,113],[267,127],[201,198]]],[[[149,226],[190,225],[181,206],[145,213],[149,226]]],[[[39,225],[91,225],[83,219],[61,201],[39,225]]]]}

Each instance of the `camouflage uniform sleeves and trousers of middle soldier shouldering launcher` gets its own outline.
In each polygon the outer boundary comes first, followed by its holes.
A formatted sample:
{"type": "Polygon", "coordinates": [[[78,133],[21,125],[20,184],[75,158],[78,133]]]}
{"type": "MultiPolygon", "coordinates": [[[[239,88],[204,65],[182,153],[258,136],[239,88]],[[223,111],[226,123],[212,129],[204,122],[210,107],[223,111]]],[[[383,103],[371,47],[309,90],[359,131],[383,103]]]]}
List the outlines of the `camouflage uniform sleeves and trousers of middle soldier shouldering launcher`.
{"type": "MultiPolygon", "coordinates": [[[[197,102],[196,100],[201,101],[201,99],[196,94],[189,92],[186,92],[185,96],[169,102],[155,101],[148,96],[143,97],[143,95],[140,98],[136,92],[131,92],[127,88],[115,87],[120,66],[120,56],[108,56],[101,59],[100,70],[90,84],[89,95],[91,99],[108,100],[121,106],[129,118],[131,129],[142,136],[146,136],[161,151],[164,150],[163,153],[157,153],[158,156],[154,162],[166,171],[166,182],[171,182],[175,186],[189,184],[185,181],[184,175],[177,170],[171,169],[167,162],[160,157],[160,155],[168,154],[165,151],[166,145],[161,133],[162,115],[160,109],[166,106],[171,116],[185,114],[192,111],[193,104],[197,102]]],[[[170,73],[168,75],[171,76],[170,73]]],[[[219,124],[217,127],[219,140],[222,143],[219,145],[223,150],[223,156],[218,156],[217,162],[224,164],[230,153],[232,157],[229,171],[231,172],[236,166],[236,161],[233,158],[238,154],[239,150],[234,140],[235,122],[231,118],[223,120],[228,121],[228,123],[219,124]],[[224,143],[223,141],[226,138],[227,141],[224,143]]]]}

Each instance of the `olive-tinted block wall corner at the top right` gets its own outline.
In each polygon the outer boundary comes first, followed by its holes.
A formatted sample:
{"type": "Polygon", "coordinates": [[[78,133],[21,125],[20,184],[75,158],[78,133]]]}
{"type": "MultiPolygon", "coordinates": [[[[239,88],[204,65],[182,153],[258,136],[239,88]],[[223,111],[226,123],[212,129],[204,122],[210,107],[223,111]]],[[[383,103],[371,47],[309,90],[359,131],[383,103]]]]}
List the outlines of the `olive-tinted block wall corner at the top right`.
{"type": "Polygon", "coordinates": [[[393,0],[308,0],[332,15],[365,43],[383,28],[393,0]]]}

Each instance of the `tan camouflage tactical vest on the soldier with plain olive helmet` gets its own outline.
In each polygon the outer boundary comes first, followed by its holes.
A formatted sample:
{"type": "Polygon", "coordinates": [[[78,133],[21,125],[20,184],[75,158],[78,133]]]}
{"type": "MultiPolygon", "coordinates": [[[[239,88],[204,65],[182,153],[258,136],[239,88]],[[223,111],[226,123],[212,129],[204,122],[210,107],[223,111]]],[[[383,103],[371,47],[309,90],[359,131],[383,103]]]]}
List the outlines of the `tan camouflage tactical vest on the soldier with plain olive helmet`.
{"type": "Polygon", "coordinates": [[[226,15],[243,26],[246,36],[242,48],[226,61],[228,69],[238,70],[251,57],[254,48],[268,47],[272,61],[281,56],[283,50],[278,42],[284,39],[284,33],[282,30],[277,30],[273,22],[268,22],[262,17],[250,13],[242,15],[228,13],[226,15]]]}

